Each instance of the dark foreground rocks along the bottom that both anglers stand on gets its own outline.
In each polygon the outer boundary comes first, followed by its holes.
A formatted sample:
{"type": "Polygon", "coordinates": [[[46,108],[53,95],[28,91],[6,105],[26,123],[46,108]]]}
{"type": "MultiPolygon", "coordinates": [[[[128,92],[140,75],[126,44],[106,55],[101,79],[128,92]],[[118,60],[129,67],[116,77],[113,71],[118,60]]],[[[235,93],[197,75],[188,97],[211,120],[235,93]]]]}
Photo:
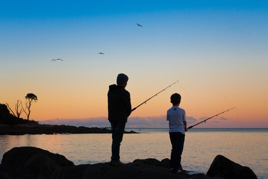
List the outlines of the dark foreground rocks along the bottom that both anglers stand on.
{"type": "Polygon", "coordinates": [[[173,174],[169,170],[169,159],[137,159],[125,166],[114,167],[109,163],[74,165],[65,156],[53,154],[36,147],[15,147],[3,155],[0,165],[2,179],[84,179],[84,178],[129,178],[129,179],[254,179],[249,167],[241,166],[222,155],[213,160],[207,174],[188,174],[183,171],[173,174]]]}

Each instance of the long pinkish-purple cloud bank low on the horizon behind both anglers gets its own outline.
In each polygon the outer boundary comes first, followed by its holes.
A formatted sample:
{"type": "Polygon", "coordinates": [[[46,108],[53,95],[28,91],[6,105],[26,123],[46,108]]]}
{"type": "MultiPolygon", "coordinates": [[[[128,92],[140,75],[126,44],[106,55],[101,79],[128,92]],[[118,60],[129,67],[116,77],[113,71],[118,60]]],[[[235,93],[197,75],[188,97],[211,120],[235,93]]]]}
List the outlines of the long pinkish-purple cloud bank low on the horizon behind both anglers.
{"type": "MultiPolygon", "coordinates": [[[[110,127],[107,117],[83,118],[83,119],[50,119],[39,121],[40,124],[51,125],[71,125],[85,127],[110,127]]],[[[186,116],[187,123],[195,123],[197,119],[186,116]]],[[[126,127],[143,127],[143,128],[168,128],[169,122],[166,120],[166,115],[148,116],[148,117],[129,117],[126,127]]]]}

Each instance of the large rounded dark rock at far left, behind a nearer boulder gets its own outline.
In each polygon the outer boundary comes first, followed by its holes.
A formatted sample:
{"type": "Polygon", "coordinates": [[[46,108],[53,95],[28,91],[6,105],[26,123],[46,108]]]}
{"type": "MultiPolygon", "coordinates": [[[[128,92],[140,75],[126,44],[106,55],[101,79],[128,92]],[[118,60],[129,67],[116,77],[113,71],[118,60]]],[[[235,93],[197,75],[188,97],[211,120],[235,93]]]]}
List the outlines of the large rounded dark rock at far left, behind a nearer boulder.
{"type": "MultiPolygon", "coordinates": [[[[3,155],[1,166],[8,167],[13,173],[21,174],[28,159],[35,154],[45,155],[55,161],[61,167],[74,166],[73,162],[66,159],[65,156],[53,154],[49,151],[36,147],[14,147],[3,155]]],[[[26,170],[26,169],[24,169],[26,170]]]]}

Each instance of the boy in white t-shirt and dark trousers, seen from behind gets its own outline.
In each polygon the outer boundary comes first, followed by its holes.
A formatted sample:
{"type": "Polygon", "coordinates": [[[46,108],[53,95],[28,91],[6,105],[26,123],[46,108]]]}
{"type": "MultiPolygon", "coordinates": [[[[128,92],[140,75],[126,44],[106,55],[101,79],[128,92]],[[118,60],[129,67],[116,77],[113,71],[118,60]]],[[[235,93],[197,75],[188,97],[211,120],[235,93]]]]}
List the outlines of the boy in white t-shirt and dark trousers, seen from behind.
{"type": "Polygon", "coordinates": [[[179,108],[181,95],[174,93],[170,97],[172,108],[167,111],[167,120],[169,121],[169,138],[172,145],[170,156],[170,171],[180,173],[181,154],[183,152],[184,137],[187,131],[185,111],[179,108]]]}

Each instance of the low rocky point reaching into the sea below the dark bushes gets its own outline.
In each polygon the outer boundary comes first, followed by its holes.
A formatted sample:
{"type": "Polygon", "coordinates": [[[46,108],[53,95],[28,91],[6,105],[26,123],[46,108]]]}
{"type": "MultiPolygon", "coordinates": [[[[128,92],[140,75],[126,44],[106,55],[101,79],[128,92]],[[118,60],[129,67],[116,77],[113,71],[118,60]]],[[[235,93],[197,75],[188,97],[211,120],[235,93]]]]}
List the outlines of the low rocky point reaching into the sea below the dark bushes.
{"type": "MultiPolygon", "coordinates": [[[[0,135],[24,135],[24,134],[91,134],[91,133],[112,133],[111,129],[98,127],[76,127],[66,125],[47,125],[38,123],[26,123],[17,125],[0,124],[0,135]]],[[[125,131],[125,133],[137,133],[125,131]]]]}

